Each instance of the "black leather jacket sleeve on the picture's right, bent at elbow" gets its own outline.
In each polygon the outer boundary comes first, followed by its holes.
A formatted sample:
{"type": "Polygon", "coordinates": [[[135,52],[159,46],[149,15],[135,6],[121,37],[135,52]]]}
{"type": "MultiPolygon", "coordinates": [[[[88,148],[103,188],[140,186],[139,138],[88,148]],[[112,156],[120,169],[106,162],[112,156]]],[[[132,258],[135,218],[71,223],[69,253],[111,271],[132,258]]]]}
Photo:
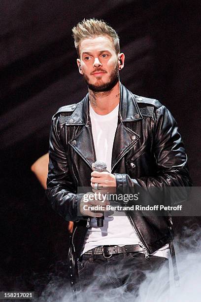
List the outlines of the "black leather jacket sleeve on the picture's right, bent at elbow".
{"type": "Polygon", "coordinates": [[[115,174],[117,189],[128,187],[191,187],[188,160],[177,123],[165,106],[155,113],[153,152],[157,165],[157,175],[136,179],[128,174],[115,174]]]}

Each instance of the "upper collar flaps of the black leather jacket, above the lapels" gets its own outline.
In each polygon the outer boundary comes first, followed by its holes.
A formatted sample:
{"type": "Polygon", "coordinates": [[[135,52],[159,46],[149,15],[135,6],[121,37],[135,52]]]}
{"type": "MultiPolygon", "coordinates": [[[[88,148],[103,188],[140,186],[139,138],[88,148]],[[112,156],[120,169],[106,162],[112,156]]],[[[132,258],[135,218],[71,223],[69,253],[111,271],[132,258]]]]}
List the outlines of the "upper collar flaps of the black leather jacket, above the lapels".
{"type": "MultiPolygon", "coordinates": [[[[121,122],[132,122],[142,119],[142,115],[137,106],[134,95],[120,82],[120,104],[119,120],[121,122]]],[[[90,125],[89,115],[89,93],[78,104],[75,111],[71,114],[69,125],[90,125]]],[[[67,123],[68,125],[68,123],[67,123]]]]}

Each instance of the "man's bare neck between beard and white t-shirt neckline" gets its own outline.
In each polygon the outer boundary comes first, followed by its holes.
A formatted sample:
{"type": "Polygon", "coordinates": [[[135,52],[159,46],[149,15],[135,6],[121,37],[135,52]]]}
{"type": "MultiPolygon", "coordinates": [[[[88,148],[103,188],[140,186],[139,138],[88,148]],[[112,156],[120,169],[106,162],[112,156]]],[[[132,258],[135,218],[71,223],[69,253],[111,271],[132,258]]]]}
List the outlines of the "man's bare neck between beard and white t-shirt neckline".
{"type": "Polygon", "coordinates": [[[109,91],[94,92],[89,89],[89,101],[90,105],[97,114],[105,115],[110,113],[120,100],[120,86],[119,81],[109,91]]]}

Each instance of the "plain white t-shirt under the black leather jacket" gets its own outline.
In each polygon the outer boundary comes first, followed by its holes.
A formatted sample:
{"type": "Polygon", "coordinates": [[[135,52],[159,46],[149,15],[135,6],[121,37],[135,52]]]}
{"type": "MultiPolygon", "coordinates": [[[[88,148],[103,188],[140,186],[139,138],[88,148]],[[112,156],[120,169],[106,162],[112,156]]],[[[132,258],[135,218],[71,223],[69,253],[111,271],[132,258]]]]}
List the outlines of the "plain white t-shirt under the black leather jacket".
{"type": "MultiPolygon", "coordinates": [[[[97,160],[102,160],[111,172],[111,158],[114,136],[118,122],[119,105],[110,113],[105,115],[97,114],[90,105],[90,117],[92,134],[97,160]]],[[[91,219],[88,228],[82,254],[101,245],[128,245],[138,244],[137,238],[129,219],[124,212],[121,216],[112,216],[105,212],[103,227],[97,227],[96,218],[91,219]],[[108,216],[109,215],[109,216],[108,216]]],[[[155,256],[167,257],[168,245],[153,253],[155,256]]]]}

